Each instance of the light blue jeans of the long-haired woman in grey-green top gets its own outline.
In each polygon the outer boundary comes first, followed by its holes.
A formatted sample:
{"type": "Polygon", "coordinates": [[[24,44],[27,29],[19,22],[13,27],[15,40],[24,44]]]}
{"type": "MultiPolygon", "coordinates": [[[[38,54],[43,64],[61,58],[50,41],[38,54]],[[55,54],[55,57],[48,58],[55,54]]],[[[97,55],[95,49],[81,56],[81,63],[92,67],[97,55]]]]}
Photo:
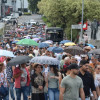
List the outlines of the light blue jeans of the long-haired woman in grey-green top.
{"type": "Polygon", "coordinates": [[[49,100],[59,100],[58,88],[48,88],[49,100]]]}

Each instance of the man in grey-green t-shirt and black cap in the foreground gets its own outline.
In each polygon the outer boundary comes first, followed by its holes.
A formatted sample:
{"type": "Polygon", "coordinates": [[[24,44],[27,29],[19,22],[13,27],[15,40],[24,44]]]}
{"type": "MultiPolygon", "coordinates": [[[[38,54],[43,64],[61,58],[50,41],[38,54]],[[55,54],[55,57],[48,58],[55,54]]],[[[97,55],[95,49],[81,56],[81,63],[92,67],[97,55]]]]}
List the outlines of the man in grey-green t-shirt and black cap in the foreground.
{"type": "Polygon", "coordinates": [[[68,66],[70,74],[61,82],[60,99],[59,100],[79,100],[79,94],[82,100],[85,100],[82,79],[77,76],[79,66],[75,63],[68,66]]]}

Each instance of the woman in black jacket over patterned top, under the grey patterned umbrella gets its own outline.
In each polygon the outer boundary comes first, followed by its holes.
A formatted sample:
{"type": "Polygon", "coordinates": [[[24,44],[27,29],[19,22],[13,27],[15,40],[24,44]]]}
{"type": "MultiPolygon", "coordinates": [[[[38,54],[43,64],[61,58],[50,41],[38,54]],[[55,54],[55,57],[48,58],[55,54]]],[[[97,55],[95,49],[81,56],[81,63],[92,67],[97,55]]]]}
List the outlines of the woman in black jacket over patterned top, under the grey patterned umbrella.
{"type": "Polygon", "coordinates": [[[44,97],[44,86],[45,79],[41,73],[41,65],[34,65],[34,74],[31,77],[32,82],[32,100],[45,100],[44,97]]]}

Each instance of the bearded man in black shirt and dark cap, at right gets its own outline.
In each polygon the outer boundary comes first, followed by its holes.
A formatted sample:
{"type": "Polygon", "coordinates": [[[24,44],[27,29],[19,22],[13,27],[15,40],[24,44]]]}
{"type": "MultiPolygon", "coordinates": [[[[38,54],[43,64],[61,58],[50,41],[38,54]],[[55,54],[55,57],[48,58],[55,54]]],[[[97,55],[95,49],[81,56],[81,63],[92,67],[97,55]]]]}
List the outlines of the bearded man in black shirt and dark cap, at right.
{"type": "MultiPolygon", "coordinates": [[[[85,100],[90,100],[90,90],[94,95],[94,100],[97,100],[96,88],[93,75],[87,72],[88,66],[86,60],[80,61],[80,72],[78,76],[82,79],[84,85],[85,100]]],[[[81,99],[80,99],[81,100],[81,99]]]]}

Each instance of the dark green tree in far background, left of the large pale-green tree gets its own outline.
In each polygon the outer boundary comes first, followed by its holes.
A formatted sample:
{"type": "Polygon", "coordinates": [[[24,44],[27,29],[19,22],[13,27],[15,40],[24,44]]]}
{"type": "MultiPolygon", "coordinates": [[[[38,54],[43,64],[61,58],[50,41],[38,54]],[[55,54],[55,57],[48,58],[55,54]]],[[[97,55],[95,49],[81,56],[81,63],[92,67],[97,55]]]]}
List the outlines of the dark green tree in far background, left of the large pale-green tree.
{"type": "Polygon", "coordinates": [[[32,12],[38,11],[37,4],[38,4],[39,1],[40,0],[28,0],[30,11],[32,11],[32,12]]]}

